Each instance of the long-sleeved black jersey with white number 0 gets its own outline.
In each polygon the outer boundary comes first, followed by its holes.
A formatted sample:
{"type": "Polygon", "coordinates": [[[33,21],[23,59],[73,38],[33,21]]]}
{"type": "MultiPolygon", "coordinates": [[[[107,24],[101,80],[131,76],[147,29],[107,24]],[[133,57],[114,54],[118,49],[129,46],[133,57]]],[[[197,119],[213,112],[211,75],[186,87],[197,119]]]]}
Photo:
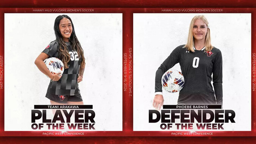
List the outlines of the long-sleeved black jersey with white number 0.
{"type": "Polygon", "coordinates": [[[178,104],[217,103],[222,105],[222,54],[220,50],[214,47],[206,52],[204,48],[202,50],[194,48],[193,53],[183,47],[184,45],[175,48],[156,71],[155,91],[162,92],[162,75],[176,63],[180,63],[185,83],[179,93],[178,104]],[[211,81],[213,81],[214,90],[211,81]]]}

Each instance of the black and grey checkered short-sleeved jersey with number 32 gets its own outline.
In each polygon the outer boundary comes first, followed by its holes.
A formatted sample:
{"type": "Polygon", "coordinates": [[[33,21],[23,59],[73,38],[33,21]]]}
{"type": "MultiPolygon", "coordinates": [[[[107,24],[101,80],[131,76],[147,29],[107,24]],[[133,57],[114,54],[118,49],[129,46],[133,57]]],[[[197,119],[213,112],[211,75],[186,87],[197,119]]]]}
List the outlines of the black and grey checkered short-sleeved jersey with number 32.
{"type": "MultiPolygon", "coordinates": [[[[50,82],[47,93],[50,92],[51,94],[55,95],[69,96],[80,94],[77,78],[80,70],[81,58],[79,59],[78,53],[75,50],[72,50],[70,42],[66,42],[66,44],[70,54],[70,60],[67,63],[69,68],[64,70],[59,81],[50,82]]],[[[51,42],[50,45],[48,45],[47,48],[42,51],[42,53],[46,53],[50,57],[59,58],[58,43],[56,41],[51,42]]]]}

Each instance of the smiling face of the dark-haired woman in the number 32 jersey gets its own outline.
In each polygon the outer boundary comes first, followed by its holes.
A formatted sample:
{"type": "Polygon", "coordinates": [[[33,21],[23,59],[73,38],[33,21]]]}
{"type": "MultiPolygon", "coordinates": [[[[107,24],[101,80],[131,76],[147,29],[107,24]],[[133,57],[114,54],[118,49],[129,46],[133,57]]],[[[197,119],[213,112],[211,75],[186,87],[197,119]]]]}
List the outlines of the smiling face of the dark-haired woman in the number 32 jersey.
{"type": "Polygon", "coordinates": [[[69,42],[69,37],[71,36],[72,30],[73,28],[70,20],[66,17],[61,19],[59,22],[59,31],[61,32],[61,36],[65,42],[69,42]]]}

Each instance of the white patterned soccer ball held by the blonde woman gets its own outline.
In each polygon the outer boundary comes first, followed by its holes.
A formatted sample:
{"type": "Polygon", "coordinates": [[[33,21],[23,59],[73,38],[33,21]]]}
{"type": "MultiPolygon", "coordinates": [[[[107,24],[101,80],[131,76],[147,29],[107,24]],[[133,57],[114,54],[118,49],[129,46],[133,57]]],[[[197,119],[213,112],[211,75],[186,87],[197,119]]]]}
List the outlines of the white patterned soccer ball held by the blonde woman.
{"type": "Polygon", "coordinates": [[[183,88],[184,77],[180,71],[168,70],[162,76],[162,87],[170,93],[176,93],[183,88]]]}

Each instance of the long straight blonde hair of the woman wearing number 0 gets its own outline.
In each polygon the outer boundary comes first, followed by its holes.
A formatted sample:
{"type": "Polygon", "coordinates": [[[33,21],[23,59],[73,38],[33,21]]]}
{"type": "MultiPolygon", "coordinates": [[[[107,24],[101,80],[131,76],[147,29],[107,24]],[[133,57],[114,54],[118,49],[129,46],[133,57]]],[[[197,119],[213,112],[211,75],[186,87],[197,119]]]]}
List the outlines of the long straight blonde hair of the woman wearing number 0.
{"type": "Polygon", "coordinates": [[[187,44],[184,46],[184,48],[187,48],[187,50],[189,50],[189,51],[195,52],[194,37],[193,37],[192,31],[193,31],[193,26],[194,26],[195,20],[197,20],[197,19],[200,19],[204,23],[206,23],[207,33],[206,33],[206,37],[205,37],[205,50],[204,51],[211,51],[213,46],[211,45],[211,34],[210,34],[210,29],[209,29],[209,22],[206,19],[206,17],[204,17],[204,15],[196,15],[191,20],[190,26],[189,26],[189,36],[187,37],[187,44]]]}

